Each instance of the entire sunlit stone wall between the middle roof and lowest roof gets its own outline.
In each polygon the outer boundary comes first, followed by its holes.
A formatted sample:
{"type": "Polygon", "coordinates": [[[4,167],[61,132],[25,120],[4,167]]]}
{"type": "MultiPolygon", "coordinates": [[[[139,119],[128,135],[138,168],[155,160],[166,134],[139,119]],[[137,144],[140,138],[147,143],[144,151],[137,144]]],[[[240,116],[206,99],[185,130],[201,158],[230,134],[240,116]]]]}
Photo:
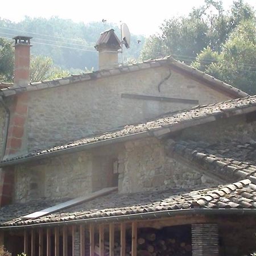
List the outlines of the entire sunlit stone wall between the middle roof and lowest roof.
{"type": "Polygon", "coordinates": [[[117,185],[119,192],[129,193],[218,184],[166,153],[158,139],[142,139],[20,164],[15,168],[14,201],[73,198],[117,185]]]}

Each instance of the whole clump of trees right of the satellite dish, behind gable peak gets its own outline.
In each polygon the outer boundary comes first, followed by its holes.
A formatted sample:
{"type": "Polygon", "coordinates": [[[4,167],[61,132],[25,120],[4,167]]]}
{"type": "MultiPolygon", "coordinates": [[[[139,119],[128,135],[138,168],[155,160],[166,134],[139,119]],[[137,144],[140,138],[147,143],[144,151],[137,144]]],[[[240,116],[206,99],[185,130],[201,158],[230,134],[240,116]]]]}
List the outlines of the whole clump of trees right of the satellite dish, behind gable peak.
{"type": "Polygon", "coordinates": [[[187,16],[165,20],[146,40],[142,59],[172,55],[250,94],[256,93],[256,23],[253,7],[236,0],[205,0],[187,16]]]}

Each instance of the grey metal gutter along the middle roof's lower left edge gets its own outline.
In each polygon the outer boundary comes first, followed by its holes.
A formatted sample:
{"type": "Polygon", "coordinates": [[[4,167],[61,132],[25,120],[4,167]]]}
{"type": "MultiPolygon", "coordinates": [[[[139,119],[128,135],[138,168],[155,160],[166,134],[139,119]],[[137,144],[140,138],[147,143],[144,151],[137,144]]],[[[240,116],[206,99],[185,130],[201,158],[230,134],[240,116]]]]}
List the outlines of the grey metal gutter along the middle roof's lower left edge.
{"type": "MultiPolygon", "coordinates": [[[[49,152],[39,154],[39,155],[27,156],[26,158],[20,158],[20,159],[14,159],[14,160],[6,161],[6,162],[0,162],[0,168],[6,167],[6,166],[13,166],[14,164],[26,163],[31,160],[40,160],[40,159],[45,159],[47,157],[58,156],[58,155],[62,155],[62,154],[70,154],[70,153],[79,152],[82,150],[89,150],[91,148],[96,148],[96,147],[100,147],[100,146],[108,146],[108,145],[114,144],[114,143],[121,143],[121,142],[131,141],[133,139],[142,139],[142,138],[146,138],[146,137],[152,137],[152,133],[150,133],[150,131],[143,131],[142,133],[130,134],[130,135],[122,136],[122,137],[105,139],[103,141],[82,144],[82,145],[75,146],[75,147],[63,148],[63,149],[56,150],[56,151],[49,151],[49,152]]],[[[17,156],[17,158],[18,158],[18,156],[17,156]]]]}

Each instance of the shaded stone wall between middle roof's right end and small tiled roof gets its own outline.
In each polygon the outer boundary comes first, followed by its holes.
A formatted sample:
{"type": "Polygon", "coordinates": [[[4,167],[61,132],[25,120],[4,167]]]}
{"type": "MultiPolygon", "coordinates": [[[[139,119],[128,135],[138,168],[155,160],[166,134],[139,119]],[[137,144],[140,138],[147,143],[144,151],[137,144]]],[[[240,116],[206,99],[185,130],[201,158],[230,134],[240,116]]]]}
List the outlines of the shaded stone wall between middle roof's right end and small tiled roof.
{"type": "MultiPolygon", "coordinates": [[[[253,113],[256,117],[256,113],[253,113]]],[[[204,125],[189,127],[182,131],[179,139],[192,139],[214,143],[236,139],[241,142],[256,140],[256,120],[249,121],[248,115],[219,119],[204,125]]]]}

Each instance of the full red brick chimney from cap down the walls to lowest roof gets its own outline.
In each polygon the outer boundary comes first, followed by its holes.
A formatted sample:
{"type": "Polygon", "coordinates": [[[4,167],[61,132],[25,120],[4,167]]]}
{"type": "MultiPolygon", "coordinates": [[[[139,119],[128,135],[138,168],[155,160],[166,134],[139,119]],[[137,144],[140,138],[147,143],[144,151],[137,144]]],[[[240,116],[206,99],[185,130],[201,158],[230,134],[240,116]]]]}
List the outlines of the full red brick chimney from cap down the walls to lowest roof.
{"type": "MultiPolygon", "coordinates": [[[[30,82],[30,37],[16,36],[15,40],[15,63],[14,63],[14,86],[27,85],[30,82]]],[[[10,106],[10,120],[7,132],[5,158],[19,154],[23,150],[26,140],[25,126],[28,113],[28,94],[22,93],[13,97],[10,106]]],[[[24,148],[24,151],[27,149],[24,148]]],[[[0,168],[0,207],[10,204],[14,191],[15,167],[0,168]]]]}

